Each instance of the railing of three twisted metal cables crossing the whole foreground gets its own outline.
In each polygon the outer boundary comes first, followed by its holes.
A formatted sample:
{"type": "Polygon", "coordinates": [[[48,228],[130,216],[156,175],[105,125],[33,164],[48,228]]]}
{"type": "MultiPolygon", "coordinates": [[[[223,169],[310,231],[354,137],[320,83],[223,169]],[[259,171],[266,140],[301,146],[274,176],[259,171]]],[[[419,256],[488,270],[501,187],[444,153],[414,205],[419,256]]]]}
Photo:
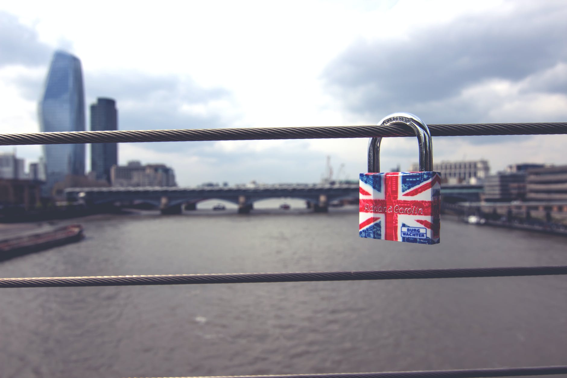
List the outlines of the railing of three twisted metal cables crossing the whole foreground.
{"type": "MultiPolygon", "coordinates": [[[[567,134],[567,122],[432,124],[432,136],[551,135],[567,134]]],[[[82,131],[0,135],[0,145],[78,144],[108,142],[220,141],[311,138],[361,138],[414,136],[404,125],[282,127],[233,129],[180,129],[138,131],[82,131]]],[[[315,282],[346,280],[392,280],[472,278],[501,276],[566,275],[567,266],[497,267],[433,270],[290,272],[250,274],[184,274],[86,277],[0,278],[0,288],[85,287],[109,285],[169,285],[211,283],[315,282]]],[[[507,377],[567,374],[567,366],[406,371],[380,373],[335,373],[269,376],[223,376],[208,378],[429,378],[507,377]]]]}

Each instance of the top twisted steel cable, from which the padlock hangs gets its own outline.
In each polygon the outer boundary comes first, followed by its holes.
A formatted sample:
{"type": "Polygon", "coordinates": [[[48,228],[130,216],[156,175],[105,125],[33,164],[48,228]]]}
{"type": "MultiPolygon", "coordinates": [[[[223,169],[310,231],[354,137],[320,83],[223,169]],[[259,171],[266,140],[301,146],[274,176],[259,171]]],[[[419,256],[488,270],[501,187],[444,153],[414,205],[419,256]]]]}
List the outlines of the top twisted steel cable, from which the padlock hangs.
{"type": "MultiPolygon", "coordinates": [[[[567,122],[431,124],[432,136],[567,134],[567,122]]],[[[69,131],[0,135],[0,145],[409,137],[407,125],[69,131]]]]}

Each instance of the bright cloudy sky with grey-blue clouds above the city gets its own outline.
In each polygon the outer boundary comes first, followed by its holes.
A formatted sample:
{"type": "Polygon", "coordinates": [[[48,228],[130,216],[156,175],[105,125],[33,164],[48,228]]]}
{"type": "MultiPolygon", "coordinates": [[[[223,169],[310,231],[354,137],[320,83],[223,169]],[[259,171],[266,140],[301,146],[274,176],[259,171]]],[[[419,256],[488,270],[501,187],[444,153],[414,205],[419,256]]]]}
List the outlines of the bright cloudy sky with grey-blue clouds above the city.
{"type": "MultiPolygon", "coordinates": [[[[0,131],[39,131],[56,49],[81,59],[87,106],[116,99],[123,130],[362,125],[396,111],[431,124],[566,121],[565,20],[562,0],[4,2],[0,131]]],[[[383,171],[417,160],[413,138],[382,145],[383,171]]],[[[567,163],[567,136],[433,146],[434,161],[484,158],[493,172],[567,163]]],[[[338,178],[357,178],[366,148],[361,138],[121,144],[119,160],[166,163],[181,185],[318,182],[327,156],[338,178]]],[[[41,149],[17,153],[30,162],[41,149]]]]}

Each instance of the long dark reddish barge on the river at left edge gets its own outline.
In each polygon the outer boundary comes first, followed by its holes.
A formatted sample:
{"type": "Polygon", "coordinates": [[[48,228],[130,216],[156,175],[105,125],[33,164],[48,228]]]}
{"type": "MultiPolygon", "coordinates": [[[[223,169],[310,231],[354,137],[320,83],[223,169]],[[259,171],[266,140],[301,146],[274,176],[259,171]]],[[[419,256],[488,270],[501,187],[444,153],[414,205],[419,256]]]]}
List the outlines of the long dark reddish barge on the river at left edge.
{"type": "Polygon", "coordinates": [[[0,260],[77,242],[83,237],[83,226],[71,224],[49,231],[5,239],[0,241],[0,260]]]}

